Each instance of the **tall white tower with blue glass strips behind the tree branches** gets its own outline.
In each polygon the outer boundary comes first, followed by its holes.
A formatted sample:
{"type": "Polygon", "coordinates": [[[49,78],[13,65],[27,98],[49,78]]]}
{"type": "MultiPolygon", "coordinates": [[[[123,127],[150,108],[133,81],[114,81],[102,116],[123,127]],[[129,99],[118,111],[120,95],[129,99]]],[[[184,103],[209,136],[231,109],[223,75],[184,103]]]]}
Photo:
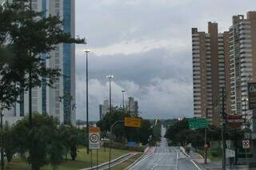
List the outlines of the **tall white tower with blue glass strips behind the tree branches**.
{"type": "MultiPolygon", "coordinates": [[[[58,15],[63,20],[63,30],[74,38],[74,0],[33,0],[33,10],[43,11],[44,16],[58,15]]],[[[46,66],[61,69],[62,77],[55,88],[42,85],[32,90],[33,112],[46,113],[57,117],[61,123],[75,125],[75,53],[74,44],[59,44],[47,55],[46,66]]],[[[46,58],[46,54],[42,54],[46,58]]],[[[14,109],[6,112],[6,121],[15,121],[29,112],[28,93],[20,96],[14,109]],[[16,118],[14,118],[16,117],[16,118]]]]}

